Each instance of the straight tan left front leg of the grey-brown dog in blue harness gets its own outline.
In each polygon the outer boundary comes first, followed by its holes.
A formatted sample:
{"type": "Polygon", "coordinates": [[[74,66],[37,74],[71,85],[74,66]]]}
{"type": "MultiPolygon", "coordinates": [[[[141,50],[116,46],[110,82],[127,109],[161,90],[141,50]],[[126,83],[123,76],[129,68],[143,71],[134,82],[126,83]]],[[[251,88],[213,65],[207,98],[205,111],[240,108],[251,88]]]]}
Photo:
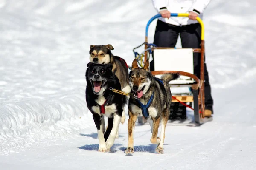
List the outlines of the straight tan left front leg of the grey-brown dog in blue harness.
{"type": "Polygon", "coordinates": [[[128,119],[128,147],[125,149],[126,154],[134,153],[134,129],[135,129],[135,122],[137,120],[137,115],[133,114],[129,109],[129,119],[128,119]]]}

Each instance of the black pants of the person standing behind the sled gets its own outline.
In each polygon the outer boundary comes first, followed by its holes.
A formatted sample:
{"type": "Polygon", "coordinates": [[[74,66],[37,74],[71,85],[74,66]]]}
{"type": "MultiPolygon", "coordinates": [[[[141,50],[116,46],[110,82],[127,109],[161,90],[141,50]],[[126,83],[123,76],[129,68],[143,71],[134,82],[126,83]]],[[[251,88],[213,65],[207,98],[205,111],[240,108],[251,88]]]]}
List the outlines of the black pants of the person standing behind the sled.
{"type": "MultiPolygon", "coordinates": [[[[175,47],[179,34],[182,48],[201,48],[201,26],[199,23],[187,26],[175,26],[158,20],[154,35],[154,44],[158,47],[175,47]]],[[[201,53],[194,53],[194,74],[199,78],[200,59],[201,53]]],[[[154,71],[154,61],[150,62],[150,70],[154,71]]],[[[204,63],[204,80],[205,109],[209,109],[213,113],[213,99],[206,63],[204,63]]]]}

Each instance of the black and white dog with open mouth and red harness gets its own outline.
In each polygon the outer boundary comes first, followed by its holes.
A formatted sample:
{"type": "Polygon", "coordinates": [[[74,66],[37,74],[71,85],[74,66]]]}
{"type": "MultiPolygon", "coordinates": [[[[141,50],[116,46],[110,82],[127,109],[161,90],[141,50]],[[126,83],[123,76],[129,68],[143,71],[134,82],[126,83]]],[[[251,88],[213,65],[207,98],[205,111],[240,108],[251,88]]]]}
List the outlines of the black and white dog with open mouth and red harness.
{"type": "Polygon", "coordinates": [[[93,113],[93,120],[98,130],[99,152],[108,152],[116,138],[127,98],[110,90],[114,88],[121,91],[119,79],[112,72],[112,64],[89,62],[87,67],[85,73],[87,107],[93,113]],[[108,117],[106,131],[104,116],[108,117]]]}

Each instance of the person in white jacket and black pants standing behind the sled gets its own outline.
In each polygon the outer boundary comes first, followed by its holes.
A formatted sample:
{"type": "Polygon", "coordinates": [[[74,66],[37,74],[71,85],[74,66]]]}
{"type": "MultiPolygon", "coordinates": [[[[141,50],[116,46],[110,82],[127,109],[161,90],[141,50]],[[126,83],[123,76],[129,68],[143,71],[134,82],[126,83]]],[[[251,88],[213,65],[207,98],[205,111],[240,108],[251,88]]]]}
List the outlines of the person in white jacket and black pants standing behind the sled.
{"type": "MultiPolygon", "coordinates": [[[[174,48],[180,35],[182,48],[201,48],[201,26],[203,12],[211,0],[152,0],[154,8],[161,14],[157,20],[154,44],[158,47],[174,48]],[[170,13],[189,13],[189,17],[170,17],[170,13]]],[[[194,74],[200,77],[200,53],[194,53],[194,74]]],[[[150,62],[154,71],[154,61],[150,62]]],[[[213,114],[213,99],[206,64],[204,63],[205,116],[213,114]]]]}

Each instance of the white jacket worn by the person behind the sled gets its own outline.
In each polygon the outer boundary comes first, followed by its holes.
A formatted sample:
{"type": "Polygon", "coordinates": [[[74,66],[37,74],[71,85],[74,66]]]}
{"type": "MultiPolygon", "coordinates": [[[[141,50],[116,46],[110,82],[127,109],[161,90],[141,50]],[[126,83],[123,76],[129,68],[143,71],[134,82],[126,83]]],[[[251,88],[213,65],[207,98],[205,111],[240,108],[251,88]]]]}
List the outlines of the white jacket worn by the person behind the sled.
{"type": "MultiPolygon", "coordinates": [[[[152,0],[157,12],[168,10],[171,13],[188,13],[194,11],[203,19],[203,12],[211,0],[152,0]]],[[[190,20],[188,17],[170,17],[169,19],[160,17],[159,20],[176,26],[184,26],[198,23],[196,20],[190,20]]]]}

